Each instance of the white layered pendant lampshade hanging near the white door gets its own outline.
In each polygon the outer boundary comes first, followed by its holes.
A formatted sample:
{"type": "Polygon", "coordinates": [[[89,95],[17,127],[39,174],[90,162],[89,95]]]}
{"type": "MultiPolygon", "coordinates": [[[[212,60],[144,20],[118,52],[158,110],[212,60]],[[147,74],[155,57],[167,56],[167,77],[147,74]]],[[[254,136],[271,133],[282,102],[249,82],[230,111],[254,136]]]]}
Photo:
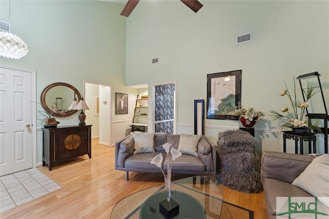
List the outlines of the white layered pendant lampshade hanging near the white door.
{"type": "Polygon", "coordinates": [[[1,31],[0,32],[0,55],[7,58],[19,59],[25,56],[29,49],[19,36],[1,31]]]}

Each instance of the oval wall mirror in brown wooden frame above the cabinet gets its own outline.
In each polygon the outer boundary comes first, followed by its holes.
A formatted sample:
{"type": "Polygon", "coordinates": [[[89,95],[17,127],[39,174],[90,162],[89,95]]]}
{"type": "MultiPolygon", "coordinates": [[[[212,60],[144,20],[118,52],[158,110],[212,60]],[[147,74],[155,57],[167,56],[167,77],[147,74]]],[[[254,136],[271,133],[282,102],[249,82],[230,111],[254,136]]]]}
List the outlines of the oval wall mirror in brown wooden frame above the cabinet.
{"type": "Polygon", "coordinates": [[[53,116],[66,117],[75,114],[78,110],[69,110],[68,107],[77,98],[81,99],[79,91],[70,84],[53,83],[48,85],[41,93],[42,107],[53,116]]]}

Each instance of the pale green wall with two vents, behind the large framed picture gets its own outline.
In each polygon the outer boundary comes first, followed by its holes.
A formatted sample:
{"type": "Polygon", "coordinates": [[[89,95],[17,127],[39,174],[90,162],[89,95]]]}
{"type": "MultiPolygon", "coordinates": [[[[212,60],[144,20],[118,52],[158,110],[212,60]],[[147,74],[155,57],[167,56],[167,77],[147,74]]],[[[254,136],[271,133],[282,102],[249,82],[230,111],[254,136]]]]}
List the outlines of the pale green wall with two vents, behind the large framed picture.
{"type": "MultiPolygon", "coordinates": [[[[318,71],[329,102],[328,1],[200,2],[203,8],[194,13],[180,1],[140,1],[126,23],[126,85],[148,83],[151,94],[152,84],[176,81],[178,133],[193,134],[193,101],[207,98],[210,73],[242,69],[243,106],[269,114],[289,106],[288,98],[278,95],[284,81],[291,88],[294,76],[318,71]],[[235,37],[248,32],[252,42],[236,45],[235,37]],[[155,57],[159,64],[152,65],[155,57]]],[[[321,99],[312,101],[312,111],[324,113],[321,99]]],[[[218,132],[240,126],[238,121],[205,123],[214,142],[218,132]]],[[[283,150],[271,117],[255,129],[259,153],[283,150]]],[[[294,153],[289,143],[288,152],[294,153]]],[[[318,152],[323,152],[322,137],[318,152]]]]}

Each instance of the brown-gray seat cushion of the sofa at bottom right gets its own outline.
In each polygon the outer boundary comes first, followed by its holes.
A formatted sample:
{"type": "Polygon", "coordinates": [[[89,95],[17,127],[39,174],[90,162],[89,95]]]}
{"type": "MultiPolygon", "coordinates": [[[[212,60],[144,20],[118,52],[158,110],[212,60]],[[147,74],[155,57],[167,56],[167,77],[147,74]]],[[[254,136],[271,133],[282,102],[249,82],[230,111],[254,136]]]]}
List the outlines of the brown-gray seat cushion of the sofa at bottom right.
{"type": "Polygon", "coordinates": [[[263,187],[267,211],[272,215],[277,213],[277,197],[312,197],[297,186],[273,178],[264,178],[263,187]]]}

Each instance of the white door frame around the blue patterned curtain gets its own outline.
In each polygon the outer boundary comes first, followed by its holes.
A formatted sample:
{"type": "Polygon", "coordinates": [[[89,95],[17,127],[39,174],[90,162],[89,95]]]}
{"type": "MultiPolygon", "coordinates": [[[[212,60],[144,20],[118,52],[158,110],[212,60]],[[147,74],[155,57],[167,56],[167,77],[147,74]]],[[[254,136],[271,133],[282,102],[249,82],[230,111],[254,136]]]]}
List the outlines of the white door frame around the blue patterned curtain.
{"type": "MultiPolygon", "coordinates": [[[[174,84],[175,85],[175,101],[174,101],[174,134],[177,133],[177,81],[173,81],[173,82],[164,82],[164,83],[158,83],[158,84],[152,84],[152,99],[151,102],[152,103],[152,115],[151,115],[151,130],[153,132],[155,132],[155,125],[154,125],[154,115],[155,115],[155,86],[161,86],[161,85],[169,85],[169,84],[174,84]]],[[[150,96],[149,96],[150,98],[150,96]]]]}

